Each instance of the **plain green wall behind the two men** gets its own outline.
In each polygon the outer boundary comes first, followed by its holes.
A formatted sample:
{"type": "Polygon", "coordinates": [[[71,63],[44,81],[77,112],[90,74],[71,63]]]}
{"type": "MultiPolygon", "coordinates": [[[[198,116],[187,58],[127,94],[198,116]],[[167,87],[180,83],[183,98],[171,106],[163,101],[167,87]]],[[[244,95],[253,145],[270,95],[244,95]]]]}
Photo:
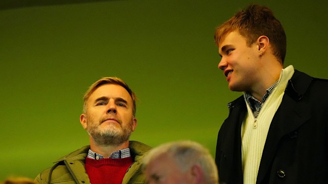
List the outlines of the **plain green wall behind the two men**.
{"type": "Polygon", "coordinates": [[[79,123],[82,96],[105,76],[122,78],[139,98],[132,140],[151,146],[193,140],[214,155],[227,103],[240,93],[229,91],[217,68],[213,33],[251,2],[271,7],[282,22],[285,66],[328,78],[328,14],[318,1],[126,0],[2,8],[0,180],[34,178],[89,144],[79,123]]]}

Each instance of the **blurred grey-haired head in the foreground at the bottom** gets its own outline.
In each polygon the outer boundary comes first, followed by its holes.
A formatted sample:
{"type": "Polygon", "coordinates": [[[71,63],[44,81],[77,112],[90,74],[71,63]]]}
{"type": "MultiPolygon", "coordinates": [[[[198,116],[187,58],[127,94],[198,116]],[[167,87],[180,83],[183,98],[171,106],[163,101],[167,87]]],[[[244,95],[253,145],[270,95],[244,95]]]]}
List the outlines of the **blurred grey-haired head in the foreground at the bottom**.
{"type": "Polygon", "coordinates": [[[148,184],[216,184],[217,168],[209,151],[192,141],[152,149],[143,161],[148,184]]]}

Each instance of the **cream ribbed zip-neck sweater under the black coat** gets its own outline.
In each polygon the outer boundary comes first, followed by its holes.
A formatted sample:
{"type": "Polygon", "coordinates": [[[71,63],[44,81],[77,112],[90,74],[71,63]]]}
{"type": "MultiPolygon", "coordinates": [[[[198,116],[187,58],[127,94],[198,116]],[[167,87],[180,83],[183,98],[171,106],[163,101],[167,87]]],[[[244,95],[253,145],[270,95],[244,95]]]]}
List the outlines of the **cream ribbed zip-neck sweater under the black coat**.
{"type": "Polygon", "coordinates": [[[256,183],[262,152],[265,140],[267,140],[271,121],[281,103],[287,83],[292,78],[293,74],[294,67],[292,65],[281,71],[277,86],[264,102],[256,119],[254,118],[251,107],[245,99],[248,113],[241,126],[241,160],[244,184],[256,183]]]}

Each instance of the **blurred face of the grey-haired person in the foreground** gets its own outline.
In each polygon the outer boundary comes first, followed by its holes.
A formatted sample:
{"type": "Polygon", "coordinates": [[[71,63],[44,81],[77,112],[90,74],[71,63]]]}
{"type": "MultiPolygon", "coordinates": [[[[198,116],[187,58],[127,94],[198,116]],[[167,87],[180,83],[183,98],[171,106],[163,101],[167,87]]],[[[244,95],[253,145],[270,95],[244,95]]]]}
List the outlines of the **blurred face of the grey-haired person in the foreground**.
{"type": "Polygon", "coordinates": [[[149,163],[145,170],[147,184],[183,184],[193,183],[190,173],[181,169],[168,155],[160,155],[149,163]]]}

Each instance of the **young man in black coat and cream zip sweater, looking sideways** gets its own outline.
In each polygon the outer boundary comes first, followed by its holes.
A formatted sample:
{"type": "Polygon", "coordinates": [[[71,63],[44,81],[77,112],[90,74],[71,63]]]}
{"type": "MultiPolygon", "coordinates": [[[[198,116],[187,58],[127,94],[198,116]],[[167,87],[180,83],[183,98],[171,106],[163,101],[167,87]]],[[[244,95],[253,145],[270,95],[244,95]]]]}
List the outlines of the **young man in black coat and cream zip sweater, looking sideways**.
{"type": "Polygon", "coordinates": [[[229,89],[216,164],[226,183],[328,183],[328,81],[283,68],[286,36],[272,11],[250,5],[216,29],[229,89]]]}

